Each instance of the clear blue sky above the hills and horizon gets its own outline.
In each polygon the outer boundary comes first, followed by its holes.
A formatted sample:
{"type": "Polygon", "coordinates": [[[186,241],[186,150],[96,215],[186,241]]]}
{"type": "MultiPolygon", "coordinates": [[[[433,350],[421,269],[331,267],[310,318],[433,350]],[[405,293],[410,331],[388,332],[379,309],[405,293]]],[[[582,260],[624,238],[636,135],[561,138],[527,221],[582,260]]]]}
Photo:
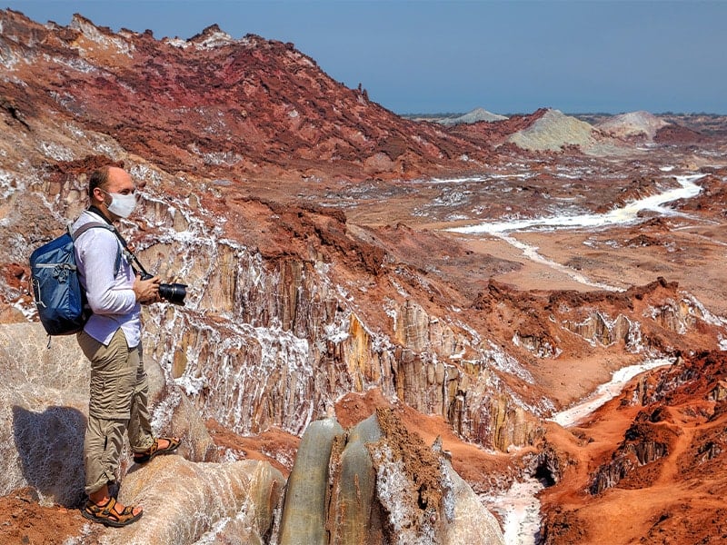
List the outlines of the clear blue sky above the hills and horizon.
{"type": "Polygon", "coordinates": [[[727,114],[727,0],[0,0],[37,22],[293,42],[398,114],[727,114]]]}

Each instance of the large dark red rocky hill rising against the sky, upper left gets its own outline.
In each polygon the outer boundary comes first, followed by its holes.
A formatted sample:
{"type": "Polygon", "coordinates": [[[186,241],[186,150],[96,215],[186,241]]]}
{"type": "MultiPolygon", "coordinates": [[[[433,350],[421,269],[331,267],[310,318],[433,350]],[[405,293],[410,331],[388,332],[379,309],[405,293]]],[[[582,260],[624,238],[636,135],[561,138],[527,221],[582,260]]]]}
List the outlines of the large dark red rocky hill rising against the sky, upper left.
{"type": "Polygon", "coordinates": [[[171,170],[229,177],[412,178],[484,161],[486,145],[407,121],[334,81],[293,44],[232,39],[216,25],[188,41],[68,27],[0,12],[19,123],[53,115],[113,136],[171,170]]]}

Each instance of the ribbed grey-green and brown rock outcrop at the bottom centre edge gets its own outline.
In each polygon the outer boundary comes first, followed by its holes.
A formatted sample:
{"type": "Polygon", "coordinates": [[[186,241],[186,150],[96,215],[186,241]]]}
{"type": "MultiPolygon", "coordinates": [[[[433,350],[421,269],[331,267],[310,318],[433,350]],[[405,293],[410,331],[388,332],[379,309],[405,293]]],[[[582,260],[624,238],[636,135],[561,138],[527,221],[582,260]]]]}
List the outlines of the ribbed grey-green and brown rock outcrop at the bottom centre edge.
{"type": "Polygon", "coordinates": [[[288,482],[281,545],[504,543],[441,445],[426,447],[390,409],[347,432],[312,423],[288,482]]]}

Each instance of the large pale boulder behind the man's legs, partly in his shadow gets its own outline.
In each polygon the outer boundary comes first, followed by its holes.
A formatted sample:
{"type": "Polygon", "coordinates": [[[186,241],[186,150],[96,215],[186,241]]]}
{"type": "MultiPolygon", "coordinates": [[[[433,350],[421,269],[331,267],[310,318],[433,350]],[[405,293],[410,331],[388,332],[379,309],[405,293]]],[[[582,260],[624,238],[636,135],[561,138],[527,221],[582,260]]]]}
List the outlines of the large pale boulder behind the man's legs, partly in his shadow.
{"type": "MultiPolygon", "coordinates": [[[[184,393],[157,363],[144,363],[154,432],[183,437],[179,453],[188,459],[214,459],[214,443],[184,393]]],[[[30,486],[44,505],[84,500],[89,369],[73,335],[49,342],[39,323],[0,325],[0,495],[30,486]]],[[[130,465],[126,449],[122,476],[130,465]]]]}

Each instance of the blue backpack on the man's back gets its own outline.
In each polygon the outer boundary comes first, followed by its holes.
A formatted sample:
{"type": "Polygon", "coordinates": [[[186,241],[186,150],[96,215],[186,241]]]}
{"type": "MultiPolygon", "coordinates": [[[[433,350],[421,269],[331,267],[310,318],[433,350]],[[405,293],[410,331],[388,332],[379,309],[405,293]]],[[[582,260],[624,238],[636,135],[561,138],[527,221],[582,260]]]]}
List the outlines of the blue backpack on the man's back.
{"type": "MultiPolygon", "coordinates": [[[[68,231],[30,254],[30,278],[38,318],[48,335],[69,335],[84,329],[91,316],[85,291],[78,281],[74,242],[89,229],[115,231],[112,225],[84,223],[74,233],[68,231]]],[[[121,266],[121,253],[116,256],[115,272],[121,266]]]]}

